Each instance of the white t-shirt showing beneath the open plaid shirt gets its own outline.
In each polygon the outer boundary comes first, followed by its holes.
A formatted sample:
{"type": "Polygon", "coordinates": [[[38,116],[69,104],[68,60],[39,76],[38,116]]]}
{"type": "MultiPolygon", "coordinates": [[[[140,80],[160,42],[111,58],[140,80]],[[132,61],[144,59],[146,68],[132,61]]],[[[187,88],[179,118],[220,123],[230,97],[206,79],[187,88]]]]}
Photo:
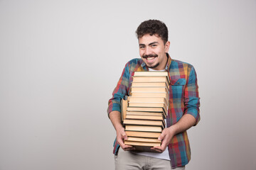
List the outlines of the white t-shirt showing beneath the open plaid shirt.
{"type": "MultiPolygon", "coordinates": [[[[149,68],[149,71],[164,72],[166,70],[165,69],[163,69],[163,70],[154,70],[154,69],[149,68]]],[[[166,123],[166,119],[164,119],[164,121],[166,123]]],[[[144,156],[147,156],[147,157],[154,157],[154,158],[158,158],[158,159],[166,159],[166,160],[171,161],[171,159],[169,157],[168,147],[166,147],[166,149],[162,153],[157,153],[157,152],[141,152],[141,151],[131,151],[131,152],[133,152],[134,154],[141,154],[141,155],[144,155],[144,156]]]]}

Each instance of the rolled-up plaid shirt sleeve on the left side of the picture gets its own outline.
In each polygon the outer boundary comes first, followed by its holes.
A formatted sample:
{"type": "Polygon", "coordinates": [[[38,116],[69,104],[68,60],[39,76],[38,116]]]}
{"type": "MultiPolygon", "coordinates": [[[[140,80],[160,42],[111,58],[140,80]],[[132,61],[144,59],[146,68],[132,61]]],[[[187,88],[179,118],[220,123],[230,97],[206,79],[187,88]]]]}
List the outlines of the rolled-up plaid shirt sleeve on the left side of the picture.
{"type": "Polygon", "coordinates": [[[108,102],[107,114],[110,118],[110,112],[121,112],[121,100],[124,96],[128,96],[129,89],[129,62],[125,65],[122,75],[114,88],[112,98],[108,102]]]}

